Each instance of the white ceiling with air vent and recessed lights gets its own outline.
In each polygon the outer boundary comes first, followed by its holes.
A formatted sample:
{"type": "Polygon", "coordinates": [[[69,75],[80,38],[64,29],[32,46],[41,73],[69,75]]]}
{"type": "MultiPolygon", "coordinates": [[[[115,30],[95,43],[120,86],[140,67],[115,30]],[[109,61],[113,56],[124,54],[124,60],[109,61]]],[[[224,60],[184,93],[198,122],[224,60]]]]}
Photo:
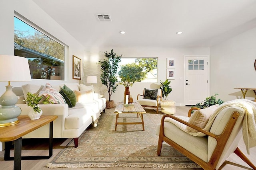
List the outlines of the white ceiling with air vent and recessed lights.
{"type": "Polygon", "coordinates": [[[84,47],[211,47],[256,27],[256,0],[33,1],[84,47]]]}

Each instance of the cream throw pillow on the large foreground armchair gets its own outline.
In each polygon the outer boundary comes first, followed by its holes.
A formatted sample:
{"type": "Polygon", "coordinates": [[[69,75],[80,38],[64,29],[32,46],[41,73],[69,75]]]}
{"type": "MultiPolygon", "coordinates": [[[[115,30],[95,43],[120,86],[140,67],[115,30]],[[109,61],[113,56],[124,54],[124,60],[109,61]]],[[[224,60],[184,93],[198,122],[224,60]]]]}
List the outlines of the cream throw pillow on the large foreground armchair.
{"type": "MultiPolygon", "coordinates": [[[[207,107],[205,109],[199,109],[194,111],[194,113],[191,115],[190,119],[188,120],[188,123],[191,123],[193,125],[196,125],[198,127],[201,127],[204,129],[206,124],[208,123],[208,120],[210,116],[214,113],[214,111],[218,108],[218,104],[207,107]]],[[[191,127],[186,127],[186,130],[188,132],[199,132],[196,129],[193,129],[191,127]]]]}

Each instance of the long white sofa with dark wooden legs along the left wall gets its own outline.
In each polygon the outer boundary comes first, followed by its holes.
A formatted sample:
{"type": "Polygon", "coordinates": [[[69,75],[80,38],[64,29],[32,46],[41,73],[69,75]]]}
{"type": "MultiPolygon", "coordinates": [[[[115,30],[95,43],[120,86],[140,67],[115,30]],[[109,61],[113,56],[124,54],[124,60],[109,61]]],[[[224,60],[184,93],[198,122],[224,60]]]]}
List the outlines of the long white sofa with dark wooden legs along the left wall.
{"type": "MultiPolygon", "coordinates": [[[[103,112],[105,112],[106,99],[99,98],[99,94],[94,93],[93,86],[85,86],[78,83],[65,84],[77,94],[87,92],[84,98],[76,103],[74,107],[69,107],[68,104],[39,104],[43,111],[42,115],[57,115],[58,118],[53,123],[53,137],[54,138],[73,138],[75,147],[78,147],[78,137],[91,124],[96,127],[98,119],[103,112]],[[86,91],[87,89],[87,91],[86,91]],[[92,89],[92,94],[88,93],[92,89]]],[[[56,91],[60,91],[64,84],[52,86],[56,91]]],[[[18,103],[16,106],[21,107],[21,115],[27,115],[31,107],[24,102],[26,93],[31,92],[37,94],[42,91],[44,85],[26,84],[22,87],[14,87],[13,91],[18,96],[18,103]]],[[[39,129],[25,135],[24,138],[48,138],[49,126],[45,125],[39,129]]]]}

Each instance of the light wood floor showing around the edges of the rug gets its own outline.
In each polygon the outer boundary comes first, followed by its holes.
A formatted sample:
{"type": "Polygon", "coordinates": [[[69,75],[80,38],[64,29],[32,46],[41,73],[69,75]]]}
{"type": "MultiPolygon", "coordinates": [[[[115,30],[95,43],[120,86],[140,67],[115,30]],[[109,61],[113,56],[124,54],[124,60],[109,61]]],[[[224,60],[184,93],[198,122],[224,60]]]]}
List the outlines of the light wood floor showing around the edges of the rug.
{"type": "MultiPolygon", "coordinates": [[[[175,115],[187,115],[190,107],[176,107],[175,115]]],[[[48,170],[46,164],[50,162],[71,139],[54,139],[53,156],[48,160],[22,160],[22,170],[48,170]]],[[[241,139],[238,147],[242,152],[251,160],[253,164],[256,164],[256,147],[250,150],[250,155],[246,153],[246,148],[243,140],[241,139]]],[[[25,139],[22,141],[22,156],[29,155],[48,155],[48,143],[45,139],[25,139]]],[[[13,152],[12,155],[13,156],[13,152]]],[[[80,170],[81,168],[73,168],[80,170]]],[[[91,170],[153,170],[154,168],[84,168],[91,170]]],[[[194,168],[192,170],[199,170],[200,168],[194,168]]],[[[230,157],[222,164],[220,170],[250,170],[250,166],[243,162],[236,154],[231,154],[230,157]]],[[[0,170],[13,170],[13,161],[4,160],[4,150],[0,152],[0,170]]],[[[69,168],[58,168],[58,170],[70,170],[69,168]]],[[[174,170],[179,170],[174,168],[174,170]]],[[[189,169],[186,169],[189,170],[189,169]]],[[[201,169],[200,169],[201,170],[201,169]]]]}

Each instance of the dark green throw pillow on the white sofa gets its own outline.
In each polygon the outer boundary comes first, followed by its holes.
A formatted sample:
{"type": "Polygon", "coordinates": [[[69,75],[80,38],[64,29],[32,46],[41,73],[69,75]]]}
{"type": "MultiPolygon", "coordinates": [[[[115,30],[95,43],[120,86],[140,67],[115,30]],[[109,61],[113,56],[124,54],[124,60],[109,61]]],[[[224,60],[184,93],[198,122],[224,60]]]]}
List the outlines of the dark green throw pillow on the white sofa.
{"type": "Polygon", "coordinates": [[[73,90],[68,88],[68,86],[66,86],[64,84],[64,86],[62,88],[60,88],[60,94],[66,100],[66,103],[68,104],[68,107],[76,106],[76,94],[73,90]]]}

